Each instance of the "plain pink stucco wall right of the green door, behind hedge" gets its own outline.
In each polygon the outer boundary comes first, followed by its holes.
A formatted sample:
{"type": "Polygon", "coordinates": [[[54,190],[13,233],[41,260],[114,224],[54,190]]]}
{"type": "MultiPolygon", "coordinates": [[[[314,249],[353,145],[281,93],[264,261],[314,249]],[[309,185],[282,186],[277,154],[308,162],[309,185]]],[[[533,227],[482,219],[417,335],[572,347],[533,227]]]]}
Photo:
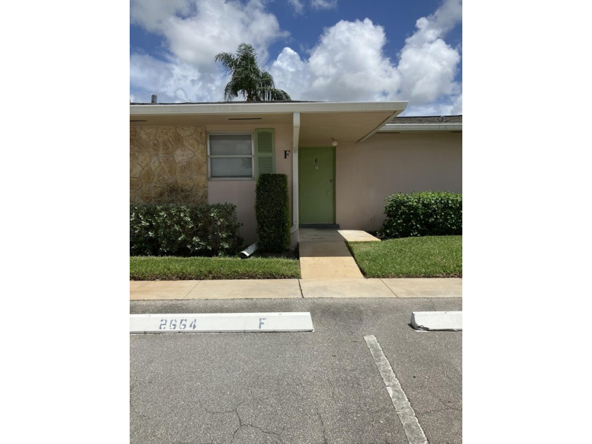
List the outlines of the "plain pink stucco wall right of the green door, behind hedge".
{"type": "Polygon", "coordinates": [[[462,192],[462,133],[378,133],[335,152],[336,221],[343,229],[378,230],[387,195],[462,192]]]}

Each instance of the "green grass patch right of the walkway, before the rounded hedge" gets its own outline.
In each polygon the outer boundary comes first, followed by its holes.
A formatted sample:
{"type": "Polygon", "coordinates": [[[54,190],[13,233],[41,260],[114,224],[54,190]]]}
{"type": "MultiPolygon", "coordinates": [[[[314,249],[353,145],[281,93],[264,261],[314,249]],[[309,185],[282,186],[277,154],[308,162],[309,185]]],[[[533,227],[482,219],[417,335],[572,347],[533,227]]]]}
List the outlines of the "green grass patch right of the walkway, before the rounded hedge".
{"type": "Polygon", "coordinates": [[[348,242],[366,278],[460,278],[462,236],[348,242]]]}

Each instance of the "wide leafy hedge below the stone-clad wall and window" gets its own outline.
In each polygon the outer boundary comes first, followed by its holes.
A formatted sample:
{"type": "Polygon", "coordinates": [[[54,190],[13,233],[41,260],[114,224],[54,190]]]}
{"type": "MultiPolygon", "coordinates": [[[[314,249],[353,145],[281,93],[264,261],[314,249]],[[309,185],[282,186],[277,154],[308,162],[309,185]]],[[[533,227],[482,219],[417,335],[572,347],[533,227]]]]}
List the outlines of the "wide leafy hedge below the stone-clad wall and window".
{"type": "Polygon", "coordinates": [[[239,228],[233,204],[132,204],[130,256],[232,256],[239,228]]]}

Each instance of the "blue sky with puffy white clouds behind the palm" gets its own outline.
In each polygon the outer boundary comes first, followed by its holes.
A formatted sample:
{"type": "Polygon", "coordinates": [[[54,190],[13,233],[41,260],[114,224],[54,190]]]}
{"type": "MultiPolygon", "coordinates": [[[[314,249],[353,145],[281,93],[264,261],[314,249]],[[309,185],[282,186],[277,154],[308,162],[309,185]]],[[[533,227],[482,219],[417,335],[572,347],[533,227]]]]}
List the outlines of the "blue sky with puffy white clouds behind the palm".
{"type": "Polygon", "coordinates": [[[462,114],[462,0],[131,0],[130,101],[223,101],[240,43],[292,100],[462,114]]]}

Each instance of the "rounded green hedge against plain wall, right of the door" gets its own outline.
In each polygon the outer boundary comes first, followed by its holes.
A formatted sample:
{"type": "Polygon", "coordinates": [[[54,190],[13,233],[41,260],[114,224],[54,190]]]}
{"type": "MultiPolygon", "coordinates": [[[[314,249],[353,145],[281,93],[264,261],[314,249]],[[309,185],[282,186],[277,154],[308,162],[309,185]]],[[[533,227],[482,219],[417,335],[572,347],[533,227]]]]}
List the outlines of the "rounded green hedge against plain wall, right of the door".
{"type": "Polygon", "coordinates": [[[462,195],[451,192],[397,193],[386,198],[382,239],[462,235],[462,195]]]}

